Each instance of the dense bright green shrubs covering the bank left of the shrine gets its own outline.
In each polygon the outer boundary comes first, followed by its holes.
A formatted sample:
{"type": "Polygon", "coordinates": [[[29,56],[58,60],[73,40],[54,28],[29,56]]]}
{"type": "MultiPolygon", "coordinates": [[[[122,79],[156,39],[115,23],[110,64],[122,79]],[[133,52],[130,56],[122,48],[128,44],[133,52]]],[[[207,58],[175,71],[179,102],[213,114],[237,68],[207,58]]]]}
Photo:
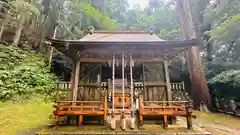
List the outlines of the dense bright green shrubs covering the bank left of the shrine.
{"type": "Polygon", "coordinates": [[[0,99],[52,92],[56,77],[42,55],[3,45],[0,52],[0,99]]]}

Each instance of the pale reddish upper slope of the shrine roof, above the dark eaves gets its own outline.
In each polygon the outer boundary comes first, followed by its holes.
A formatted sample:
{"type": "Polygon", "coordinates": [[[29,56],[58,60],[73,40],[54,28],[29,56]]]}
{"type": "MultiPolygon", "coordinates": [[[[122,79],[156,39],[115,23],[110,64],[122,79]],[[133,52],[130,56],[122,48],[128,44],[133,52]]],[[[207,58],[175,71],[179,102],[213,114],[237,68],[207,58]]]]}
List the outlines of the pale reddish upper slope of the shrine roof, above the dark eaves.
{"type": "Polygon", "coordinates": [[[137,30],[115,30],[115,31],[93,31],[80,39],[79,41],[97,41],[97,42],[141,42],[141,41],[163,41],[151,31],[137,30]]]}

